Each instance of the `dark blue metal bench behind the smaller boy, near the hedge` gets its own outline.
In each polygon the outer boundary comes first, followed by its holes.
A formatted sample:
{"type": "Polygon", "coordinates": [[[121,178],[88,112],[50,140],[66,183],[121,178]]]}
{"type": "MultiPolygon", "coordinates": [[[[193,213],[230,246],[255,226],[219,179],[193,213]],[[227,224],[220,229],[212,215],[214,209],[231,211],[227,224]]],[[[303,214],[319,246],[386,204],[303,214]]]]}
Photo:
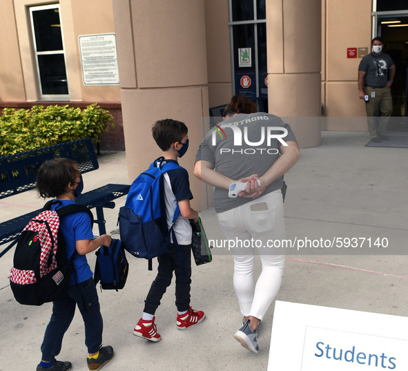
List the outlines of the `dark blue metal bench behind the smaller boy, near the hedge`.
{"type": "MultiPolygon", "coordinates": [[[[34,189],[39,167],[43,162],[53,158],[74,160],[80,173],[88,173],[99,168],[89,138],[4,156],[0,158],[0,199],[34,189]]],[[[99,227],[99,234],[106,234],[104,208],[113,209],[115,207],[113,200],[127,195],[129,188],[128,184],[106,184],[77,197],[77,203],[84,204],[90,209],[95,207],[97,213],[95,222],[99,227]]],[[[0,245],[11,242],[0,252],[0,257],[17,243],[23,228],[40,212],[41,209],[0,223],[0,245]]]]}

